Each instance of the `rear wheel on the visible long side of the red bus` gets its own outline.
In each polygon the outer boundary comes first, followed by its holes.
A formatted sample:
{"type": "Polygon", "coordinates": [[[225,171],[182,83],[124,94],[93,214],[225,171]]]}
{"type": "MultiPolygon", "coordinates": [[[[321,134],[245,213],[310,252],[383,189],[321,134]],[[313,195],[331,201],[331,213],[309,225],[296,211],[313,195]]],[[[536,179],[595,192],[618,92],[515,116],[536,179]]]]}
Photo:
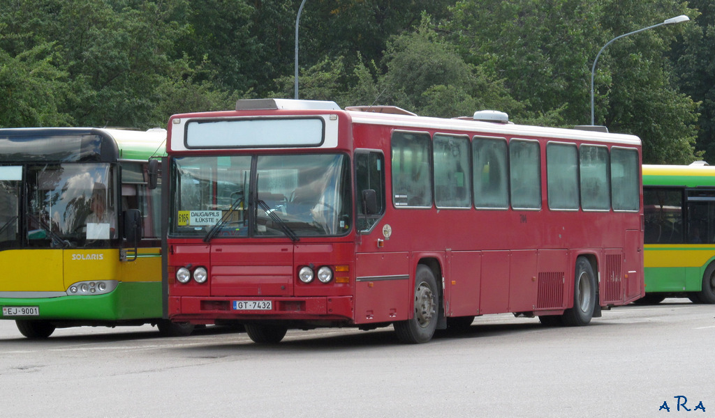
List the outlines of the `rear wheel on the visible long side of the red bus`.
{"type": "Polygon", "coordinates": [[[568,327],[583,327],[588,325],[596,309],[597,290],[596,275],[586,258],[576,259],[576,275],[573,280],[573,307],[563,312],[563,325],[568,327]]]}

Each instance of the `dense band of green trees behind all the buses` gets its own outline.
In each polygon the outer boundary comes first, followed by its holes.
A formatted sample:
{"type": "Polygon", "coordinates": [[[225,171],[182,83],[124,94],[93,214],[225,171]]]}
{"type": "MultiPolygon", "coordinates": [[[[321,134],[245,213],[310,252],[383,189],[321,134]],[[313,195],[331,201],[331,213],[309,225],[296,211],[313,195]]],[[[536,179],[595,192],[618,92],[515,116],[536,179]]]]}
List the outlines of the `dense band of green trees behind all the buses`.
{"type": "MultiPolygon", "coordinates": [[[[0,126],[163,126],[293,97],[301,0],[5,0],[0,126]]],[[[648,163],[715,163],[710,0],[307,0],[300,98],[421,115],[506,111],[644,141],[648,163]],[[697,150],[697,151],[696,151],[697,150]]]]}

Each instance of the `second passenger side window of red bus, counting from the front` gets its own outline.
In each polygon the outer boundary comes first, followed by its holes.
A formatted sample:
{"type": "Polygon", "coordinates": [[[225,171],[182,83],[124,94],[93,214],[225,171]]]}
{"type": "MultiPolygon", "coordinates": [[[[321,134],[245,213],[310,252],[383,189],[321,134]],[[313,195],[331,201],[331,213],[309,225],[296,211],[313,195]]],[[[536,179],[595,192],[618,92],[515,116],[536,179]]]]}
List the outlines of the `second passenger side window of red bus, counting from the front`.
{"type": "Polygon", "coordinates": [[[472,205],[469,138],[435,134],[432,145],[435,204],[438,208],[469,208],[472,205]]]}

